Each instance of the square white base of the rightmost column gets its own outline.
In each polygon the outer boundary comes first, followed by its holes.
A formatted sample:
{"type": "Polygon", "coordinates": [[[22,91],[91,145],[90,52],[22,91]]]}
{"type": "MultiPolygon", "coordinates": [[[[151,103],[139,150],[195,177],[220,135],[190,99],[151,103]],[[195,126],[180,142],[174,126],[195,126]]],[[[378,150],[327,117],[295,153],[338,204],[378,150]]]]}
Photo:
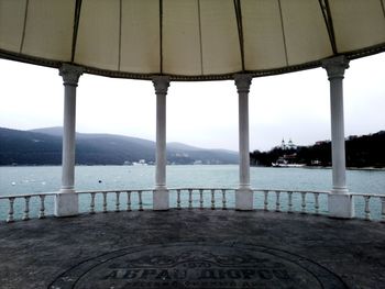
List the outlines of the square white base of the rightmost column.
{"type": "Polygon", "coordinates": [[[351,219],[354,216],[353,197],[348,193],[332,193],[328,197],[330,218],[351,219]]]}

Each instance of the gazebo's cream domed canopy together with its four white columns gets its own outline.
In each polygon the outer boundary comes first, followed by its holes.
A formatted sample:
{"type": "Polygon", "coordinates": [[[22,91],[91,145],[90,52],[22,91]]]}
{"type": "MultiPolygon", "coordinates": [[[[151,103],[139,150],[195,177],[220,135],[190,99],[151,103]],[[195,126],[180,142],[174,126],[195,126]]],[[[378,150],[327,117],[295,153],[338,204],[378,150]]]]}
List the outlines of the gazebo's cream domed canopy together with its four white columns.
{"type": "Polygon", "coordinates": [[[166,95],[172,81],[234,79],[240,180],[251,210],[249,89],[253,77],[323,67],[330,80],[329,215],[351,218],[342,80],[349,62],[385,51],[384,0],[0,0],[0,57],[56,67],[65,87],[63,179],[55,214],[78,213],[76,87],[81,74],[152,80],[156,93],[154,210],[169,207],[166,95]]]}

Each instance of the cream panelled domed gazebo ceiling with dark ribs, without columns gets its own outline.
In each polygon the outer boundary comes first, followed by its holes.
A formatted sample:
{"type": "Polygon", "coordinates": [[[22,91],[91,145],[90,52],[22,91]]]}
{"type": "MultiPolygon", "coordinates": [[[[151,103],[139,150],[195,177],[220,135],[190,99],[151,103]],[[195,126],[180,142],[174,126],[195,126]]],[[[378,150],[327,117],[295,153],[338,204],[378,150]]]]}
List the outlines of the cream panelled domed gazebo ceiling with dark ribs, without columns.
{"type": "Polygon", "coordinates": [[[385,0],[0,0],[0,57],[174,80],[283,74],[385,51],[385,0]]]}

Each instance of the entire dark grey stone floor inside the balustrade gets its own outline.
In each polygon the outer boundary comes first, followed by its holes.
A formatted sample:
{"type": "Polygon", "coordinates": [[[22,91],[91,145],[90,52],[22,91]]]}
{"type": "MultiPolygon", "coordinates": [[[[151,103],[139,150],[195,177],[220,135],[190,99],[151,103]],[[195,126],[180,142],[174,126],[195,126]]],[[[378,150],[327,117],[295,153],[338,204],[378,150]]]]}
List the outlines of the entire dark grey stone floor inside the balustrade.
{"type": "Polygon", "coordinates": [[[1,222],[0,288],[385,288],[385,223],[198,209],[1,222]]]}

